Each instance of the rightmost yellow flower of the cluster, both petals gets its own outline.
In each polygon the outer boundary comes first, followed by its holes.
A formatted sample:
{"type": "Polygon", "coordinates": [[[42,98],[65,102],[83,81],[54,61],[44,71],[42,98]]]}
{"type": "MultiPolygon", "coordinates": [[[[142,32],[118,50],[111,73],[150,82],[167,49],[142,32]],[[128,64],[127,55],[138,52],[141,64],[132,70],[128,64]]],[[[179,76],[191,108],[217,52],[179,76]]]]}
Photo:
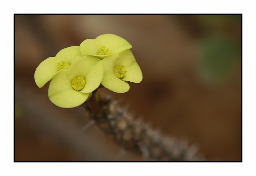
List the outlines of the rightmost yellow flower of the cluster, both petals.
{"type": "Polygon", "coordinates": [[[124,93],[130,89],[130,86],[125,81],[140,83],[142,81],[142,72],[136,62],[131,50],[124,50],[119,54],[111,54],[102,60],[104,66],[104,74],[101,84],[109,90],[117,93],[124,93]],[[118,78],[114,69],[116,66],[122,67],[118,78]],[[126,72],[127,71],[127,72],[126,72]],[[123,74],[124,73],[124,74],[123,74]]]}

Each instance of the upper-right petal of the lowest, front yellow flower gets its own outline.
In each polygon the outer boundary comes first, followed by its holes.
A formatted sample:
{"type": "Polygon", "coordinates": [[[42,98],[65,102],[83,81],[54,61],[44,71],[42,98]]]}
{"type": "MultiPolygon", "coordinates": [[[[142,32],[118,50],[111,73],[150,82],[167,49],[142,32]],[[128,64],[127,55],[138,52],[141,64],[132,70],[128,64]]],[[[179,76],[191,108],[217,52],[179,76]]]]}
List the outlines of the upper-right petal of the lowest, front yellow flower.
{"type": "Polygon", "coordinates": [[[85,78],[85,86],[80,92],[93,92],[100,86],[103,77],[102,61],[94,56],[83,56],[77,59],[68,69],[68,78],[72,81],[77,76],[85,78]]]}

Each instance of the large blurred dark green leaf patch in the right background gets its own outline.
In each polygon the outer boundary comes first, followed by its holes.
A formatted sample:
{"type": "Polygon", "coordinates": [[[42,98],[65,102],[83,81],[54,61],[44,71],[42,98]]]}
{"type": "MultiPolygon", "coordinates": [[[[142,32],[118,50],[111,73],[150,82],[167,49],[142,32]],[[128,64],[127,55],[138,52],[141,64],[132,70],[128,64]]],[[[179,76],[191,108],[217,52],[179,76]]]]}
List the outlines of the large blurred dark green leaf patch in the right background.
{"type": "Polygon", "coordinates": [[[235,42],[227,38],[210,37],[202,42],[202,62],[199,74],[206,82],[219,82],[232,70],[238,53],[235,42]]]}

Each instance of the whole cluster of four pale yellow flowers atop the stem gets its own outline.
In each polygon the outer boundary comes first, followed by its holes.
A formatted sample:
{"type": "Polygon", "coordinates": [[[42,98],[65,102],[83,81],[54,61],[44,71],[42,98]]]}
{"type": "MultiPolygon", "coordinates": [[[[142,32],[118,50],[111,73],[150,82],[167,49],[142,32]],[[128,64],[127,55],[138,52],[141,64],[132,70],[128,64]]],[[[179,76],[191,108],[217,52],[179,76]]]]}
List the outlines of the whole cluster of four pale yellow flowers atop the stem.
{"type": "Polygon", "coordinates": [[[127,92],[130,86],[125,81],[142,81],[131,48],[114,34],[84,40],[80,46],[64,48],[41,62],[34,75],[36,85],[41,88],[51,80],[49,99],[62,108],[83,104],[100,85],[113,92],[127,92]]]}

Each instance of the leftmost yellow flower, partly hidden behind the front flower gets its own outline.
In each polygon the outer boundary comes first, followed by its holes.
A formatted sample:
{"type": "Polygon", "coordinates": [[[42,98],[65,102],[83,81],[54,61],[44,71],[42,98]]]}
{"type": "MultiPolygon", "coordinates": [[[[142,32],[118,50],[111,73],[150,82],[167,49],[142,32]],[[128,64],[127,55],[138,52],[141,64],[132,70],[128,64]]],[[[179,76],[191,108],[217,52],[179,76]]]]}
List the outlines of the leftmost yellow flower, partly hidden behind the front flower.
{"type": "Polygon", "coordinates": [[[67,69],[76,59],[82,57],[79,46],[60,50],[55,57],[49,57],[36,68],[34,78],[36,85],[42,88],[57,73],[67,69]]]}

